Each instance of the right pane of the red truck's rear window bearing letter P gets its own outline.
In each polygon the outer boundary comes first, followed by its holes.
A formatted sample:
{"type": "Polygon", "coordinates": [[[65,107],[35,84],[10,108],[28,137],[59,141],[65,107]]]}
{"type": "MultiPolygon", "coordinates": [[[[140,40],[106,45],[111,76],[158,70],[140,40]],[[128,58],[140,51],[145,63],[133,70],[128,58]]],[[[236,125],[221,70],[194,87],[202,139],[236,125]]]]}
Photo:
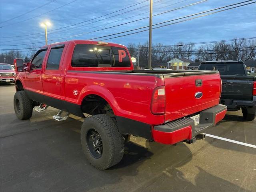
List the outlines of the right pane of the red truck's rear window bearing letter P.
{"type": "Polygon", "coordinates": [[[128,53],[124,48],[111,47],[114,60],[112,67],[130,67],[131,62],[128,53]]]}

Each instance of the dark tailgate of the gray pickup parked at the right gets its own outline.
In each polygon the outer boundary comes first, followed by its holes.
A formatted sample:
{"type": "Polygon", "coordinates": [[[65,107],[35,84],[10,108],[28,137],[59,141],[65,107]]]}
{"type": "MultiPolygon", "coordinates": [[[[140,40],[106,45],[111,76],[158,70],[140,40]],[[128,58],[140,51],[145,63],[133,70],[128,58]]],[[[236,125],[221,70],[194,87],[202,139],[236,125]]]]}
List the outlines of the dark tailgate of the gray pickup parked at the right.
{"type": "Polygon", "coordinates": [[[221,98],[252,100],[254,76],[221,75],[221,98]]]}

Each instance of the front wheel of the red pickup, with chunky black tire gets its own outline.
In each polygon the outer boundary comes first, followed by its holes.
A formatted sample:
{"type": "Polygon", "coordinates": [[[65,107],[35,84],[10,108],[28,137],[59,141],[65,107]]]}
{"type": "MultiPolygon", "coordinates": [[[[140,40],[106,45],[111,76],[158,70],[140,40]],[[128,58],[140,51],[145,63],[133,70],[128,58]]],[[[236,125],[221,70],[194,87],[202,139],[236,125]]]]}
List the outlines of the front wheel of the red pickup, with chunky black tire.
{"type": "Polygon", "coordinates": [[[32,116],[33,104],[24,91],[18,91],[13,99],[14,111],[18,119],[29,119],[32,116]]]}

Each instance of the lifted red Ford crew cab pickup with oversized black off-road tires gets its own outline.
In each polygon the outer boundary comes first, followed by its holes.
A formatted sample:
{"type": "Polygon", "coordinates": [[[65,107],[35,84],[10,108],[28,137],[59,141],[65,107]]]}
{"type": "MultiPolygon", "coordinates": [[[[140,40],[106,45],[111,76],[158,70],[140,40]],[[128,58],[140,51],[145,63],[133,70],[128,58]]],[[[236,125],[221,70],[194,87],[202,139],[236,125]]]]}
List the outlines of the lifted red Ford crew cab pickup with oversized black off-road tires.
{"type": "Polygon", "coordinates": [[[71,40],[43,46],[17,71],[14,110],[59,109],[55,120],[85,118],[82,148],[100,170],[120,162],[130,135],[163,144],[193,143],[222,120],[218,71],[134,70],[120,44],[71,40]],[[66,114],[65,114],[66,113],[66,114]],[[63,115],[64,114],[64,115],[63,115]]]}

